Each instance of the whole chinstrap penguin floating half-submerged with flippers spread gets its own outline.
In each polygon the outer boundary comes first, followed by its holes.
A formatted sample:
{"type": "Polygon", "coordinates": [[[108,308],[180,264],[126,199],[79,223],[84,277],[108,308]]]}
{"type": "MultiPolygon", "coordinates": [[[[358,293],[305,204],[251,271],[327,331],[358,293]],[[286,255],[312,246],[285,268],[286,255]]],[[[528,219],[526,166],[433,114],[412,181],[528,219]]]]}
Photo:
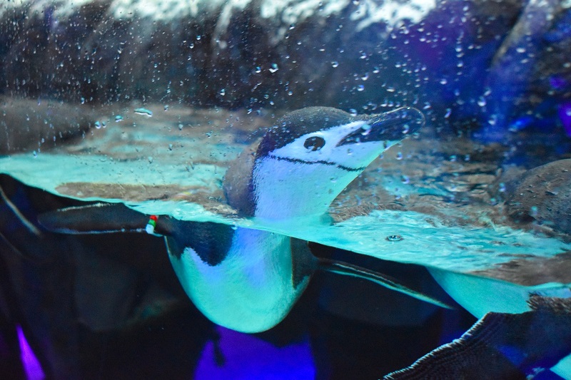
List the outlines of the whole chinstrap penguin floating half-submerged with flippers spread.
{"type": "MultiPolygon", "coordinates": [[[[323,217],[375,158],[424,123],[423,113],[410,107],[378,115],[327,107],[287,113],[229,166],[223,180],[228,205],[259,220],[323,217]]],[[[143,232],[147,220],[121,204],[69,207],[39,217],[49,230],[66,233],[143,232]]],[[[148,222],[147,232],[165,238],[173,269],[196,307],[238,332],[263,332],[281,322],[318,269],[448,307],[383,274],[317,258],[308,242],[288,235],[167,215],[148,222]]]]}

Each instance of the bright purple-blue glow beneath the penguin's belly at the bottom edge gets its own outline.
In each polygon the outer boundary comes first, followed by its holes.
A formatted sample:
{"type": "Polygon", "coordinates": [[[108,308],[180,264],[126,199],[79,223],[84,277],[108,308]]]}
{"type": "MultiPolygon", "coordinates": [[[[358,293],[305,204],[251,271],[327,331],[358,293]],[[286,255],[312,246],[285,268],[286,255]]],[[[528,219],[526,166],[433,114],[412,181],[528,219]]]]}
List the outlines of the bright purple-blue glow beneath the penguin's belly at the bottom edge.
{"type": "Polygon", "coordinates": [[[217,327],[224,364],[218,366],[214,343],[204,346],[195,379],[315,379],[309,342],[276,347],[249,334],[217,327]]]}

